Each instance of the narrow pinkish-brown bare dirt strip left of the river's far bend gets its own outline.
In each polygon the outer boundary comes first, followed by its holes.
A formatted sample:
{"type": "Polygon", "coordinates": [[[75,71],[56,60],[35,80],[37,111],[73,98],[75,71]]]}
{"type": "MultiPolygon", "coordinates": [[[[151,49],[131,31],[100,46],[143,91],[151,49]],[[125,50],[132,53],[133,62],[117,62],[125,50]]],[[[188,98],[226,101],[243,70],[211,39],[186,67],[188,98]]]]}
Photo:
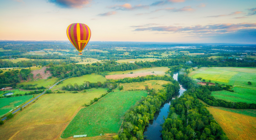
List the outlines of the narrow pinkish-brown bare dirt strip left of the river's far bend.
{"type": "Polygon", "coordinates": [[[123,79],[126,77],[134,78],[138,76],[147,76],[147,75],[156,75],[152,72],[142,72],[142,73],[133,73],[133,74],[122,74],[122,75],[106,75],[107,79],[123,79]]]}

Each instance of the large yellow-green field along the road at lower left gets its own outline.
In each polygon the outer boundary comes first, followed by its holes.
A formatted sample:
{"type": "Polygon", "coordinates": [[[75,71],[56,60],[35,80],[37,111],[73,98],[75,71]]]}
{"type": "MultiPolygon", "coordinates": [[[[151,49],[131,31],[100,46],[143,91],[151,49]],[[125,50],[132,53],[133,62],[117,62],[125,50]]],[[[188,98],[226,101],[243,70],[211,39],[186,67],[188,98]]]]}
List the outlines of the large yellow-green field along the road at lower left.
{"type": "Polygon", "coordinates": [[[83,104],[89,104],[90,100],[99,98],[106,91],[93,88],[86,93],[46,94],[0,126],[0,139],[57,139],[83,104]]]}

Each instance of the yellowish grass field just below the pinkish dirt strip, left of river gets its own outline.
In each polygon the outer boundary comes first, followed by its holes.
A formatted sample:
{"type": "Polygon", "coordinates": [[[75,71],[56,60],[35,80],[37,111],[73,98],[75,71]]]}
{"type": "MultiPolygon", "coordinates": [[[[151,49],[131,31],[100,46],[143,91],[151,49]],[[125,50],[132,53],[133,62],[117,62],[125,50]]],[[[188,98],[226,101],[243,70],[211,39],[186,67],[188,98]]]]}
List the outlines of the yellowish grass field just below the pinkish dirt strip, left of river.
{"type": "Polygon", "coordinates": [[[145,82],[137,82],[137,83],[120,83],[119,85],[123,86],[123,91],[128,91],[128,90],[145,90],[145,86],[148,86],[149,89],[155,89],[160,90],[163,89],[164,87],[162,86],[163,84],[171,83],[168,81],[164,80],[148,80],[145,82]]]}

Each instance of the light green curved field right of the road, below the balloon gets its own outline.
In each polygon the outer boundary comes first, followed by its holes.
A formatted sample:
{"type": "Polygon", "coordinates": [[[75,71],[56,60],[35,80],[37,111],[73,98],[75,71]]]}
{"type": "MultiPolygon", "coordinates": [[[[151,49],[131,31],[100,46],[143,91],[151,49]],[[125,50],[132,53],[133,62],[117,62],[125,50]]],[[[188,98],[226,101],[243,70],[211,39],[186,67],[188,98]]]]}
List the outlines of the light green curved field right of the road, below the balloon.
{"type": "Polygon", "coordinates": [[[80,77],[72,77],[68,78],[66,80],[63,80],[63,83],[56,85],[54,89],[57,89],[62,86],[66,86],[67,84],[74,85],[75,83],[78,85],[83,84],[83,81],[89,81],[90,83],[97,83],[100,81],[101,83],[105,82],[107,79],[101,75],[97,75],[95,73],[89,74],[89,75],[83,75],[80,77]]]}

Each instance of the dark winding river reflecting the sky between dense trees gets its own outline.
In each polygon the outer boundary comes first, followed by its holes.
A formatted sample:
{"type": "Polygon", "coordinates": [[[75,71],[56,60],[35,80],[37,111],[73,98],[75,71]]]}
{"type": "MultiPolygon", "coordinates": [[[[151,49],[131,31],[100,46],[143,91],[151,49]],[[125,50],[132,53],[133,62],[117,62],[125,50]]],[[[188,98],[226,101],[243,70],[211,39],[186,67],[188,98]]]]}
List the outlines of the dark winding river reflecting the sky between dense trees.
{"type": "MultiPolygon", "coordinates": [[[[178,73],[175,73],[173,75],[173,78],[175,80],[178,80],[178,73]]],[[[180,92],[178,94],[175,94],[173,96],[173,99],[175,97],[180,97],[186,89],[180,85],[180,92]]],[[[156,112],[154,115],[154,119],[149,121],[149,125],[146,126],[144,130],[144,140],[162,140],[162,133],[160,132],[162,130],[161,124],[164,123],[163,116],[167,118],[168,112],[169,112],[169,106],[171,104],[171,101],[166,101],[160,108],[160,111],[156,112]]]]}

